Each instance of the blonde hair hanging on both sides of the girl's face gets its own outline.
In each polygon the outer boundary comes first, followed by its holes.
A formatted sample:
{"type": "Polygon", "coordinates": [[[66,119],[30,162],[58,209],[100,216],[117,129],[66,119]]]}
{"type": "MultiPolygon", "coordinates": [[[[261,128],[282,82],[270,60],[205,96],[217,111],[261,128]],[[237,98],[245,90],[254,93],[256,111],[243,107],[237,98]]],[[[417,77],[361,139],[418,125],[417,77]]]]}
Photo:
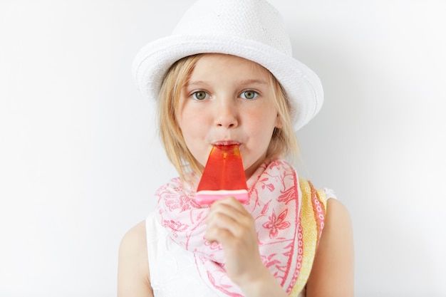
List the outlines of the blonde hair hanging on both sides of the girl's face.
{"type": "MultiPolygon", "coordinates": [[[[181,90],[187,84],[195,64],[203,55],[187,56],[175,62],[165,75],[158,98],[157,116],[162,145],[165,148],[167,158],[182,178],[188,172],[201,174],[204,168],[187,148],[176,114],[181,90]]],[[[281,121],[281,127],[274,128],[266,151],[266,159],[291,157],[291,160],[295,160],[299,155],[299,145],[291,121],[289,100],[286,98],[284,88],[279,81],[269,71],[268,73],[270,74],[269,85],[273,90],[274,103],[281,121]]]]}

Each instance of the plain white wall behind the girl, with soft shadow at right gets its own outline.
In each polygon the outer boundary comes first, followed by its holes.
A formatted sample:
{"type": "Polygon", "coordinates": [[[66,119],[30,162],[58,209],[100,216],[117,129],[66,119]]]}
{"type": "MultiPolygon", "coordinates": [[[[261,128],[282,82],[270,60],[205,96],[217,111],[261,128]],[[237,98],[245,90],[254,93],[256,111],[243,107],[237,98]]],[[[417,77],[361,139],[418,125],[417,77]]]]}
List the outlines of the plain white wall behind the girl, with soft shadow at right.
{"type": "MultiPolygon", "coordinates": [[[[175,174],[131,63],[191,3],[0,1],[0,296],[115,296],[175,174]]],[[[323,81],[299,171],[351,212],[356,296],[446,296],[445,1],[271,3],[323,81]]]]}

